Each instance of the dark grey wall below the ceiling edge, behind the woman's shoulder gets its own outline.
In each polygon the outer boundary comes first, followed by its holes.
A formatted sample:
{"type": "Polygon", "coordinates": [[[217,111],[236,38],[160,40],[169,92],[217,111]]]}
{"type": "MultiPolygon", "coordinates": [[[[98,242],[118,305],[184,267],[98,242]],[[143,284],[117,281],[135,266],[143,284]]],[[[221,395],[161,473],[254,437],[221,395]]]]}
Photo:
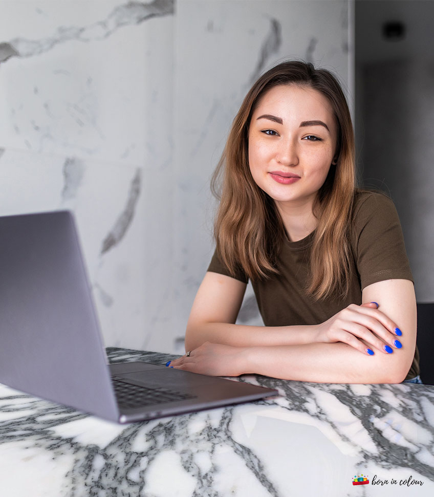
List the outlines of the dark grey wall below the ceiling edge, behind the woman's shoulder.
{"type": "Polygon", "coordinates": [[[365,66],[363,180],[397,207],[419,301],[434,300],[434,66],[365,66]]]}

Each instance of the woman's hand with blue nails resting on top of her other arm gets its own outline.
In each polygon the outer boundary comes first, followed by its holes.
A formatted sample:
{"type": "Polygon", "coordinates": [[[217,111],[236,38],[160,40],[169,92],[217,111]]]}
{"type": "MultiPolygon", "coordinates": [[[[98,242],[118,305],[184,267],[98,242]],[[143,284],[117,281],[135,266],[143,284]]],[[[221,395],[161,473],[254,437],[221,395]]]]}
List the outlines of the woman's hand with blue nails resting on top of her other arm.
{"type": "Polygon", "coordinates": [[[392,354],[402,347],[398,339],[402,332],[378,310],[376,302],[361,306],[351,304],[316,327],[316,341],[343,342],[363,354],[374,355],[376,351],[392,354]]]}

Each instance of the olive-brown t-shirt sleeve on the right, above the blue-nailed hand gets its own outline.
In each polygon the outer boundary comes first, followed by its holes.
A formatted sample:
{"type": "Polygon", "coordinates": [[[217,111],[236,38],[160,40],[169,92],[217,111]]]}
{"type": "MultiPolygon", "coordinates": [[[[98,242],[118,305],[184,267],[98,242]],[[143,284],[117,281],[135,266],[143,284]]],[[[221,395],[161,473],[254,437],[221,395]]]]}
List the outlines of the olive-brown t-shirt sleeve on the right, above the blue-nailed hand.
{"type": "Polygon", "coordinates": [[[362,290],[386,279],[413,282],[392,200],[381,193],[361,193],[355,203],[352,226],[352,249],[362,290]]]}

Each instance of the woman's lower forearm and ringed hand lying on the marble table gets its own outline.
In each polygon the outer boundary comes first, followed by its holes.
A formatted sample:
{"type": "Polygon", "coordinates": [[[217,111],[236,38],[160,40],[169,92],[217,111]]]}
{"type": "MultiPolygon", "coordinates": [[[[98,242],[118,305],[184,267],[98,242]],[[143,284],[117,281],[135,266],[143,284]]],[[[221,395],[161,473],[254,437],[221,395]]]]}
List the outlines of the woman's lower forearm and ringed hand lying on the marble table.
{"type": "Polygon", "coordinates": [[[205,342],[170,365],[211,376],[261,374],[318,383],[400,383],[415,350],[411,337],[403,343],[403,348],[393,353],[370,356],[341,342],[268,347],[205,342]]]}

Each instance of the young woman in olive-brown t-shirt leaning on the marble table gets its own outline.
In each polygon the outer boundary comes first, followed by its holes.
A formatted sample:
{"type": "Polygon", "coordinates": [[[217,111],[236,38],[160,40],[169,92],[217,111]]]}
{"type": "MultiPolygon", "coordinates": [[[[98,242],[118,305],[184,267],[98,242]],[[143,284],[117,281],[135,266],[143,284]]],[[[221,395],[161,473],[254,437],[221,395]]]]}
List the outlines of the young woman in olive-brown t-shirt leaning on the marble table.
{"type": "Polygon", "coordinates": [[[236,115],[216,250],[174,368],[331,383],[417,381],[416,300],[393,203],[355,188],[335,77],[279,64],[236,115]],[[235,325],[248,279],[265,327],[235,325]],[[401,331],[402,330],[402,331],[401,331]]]}

